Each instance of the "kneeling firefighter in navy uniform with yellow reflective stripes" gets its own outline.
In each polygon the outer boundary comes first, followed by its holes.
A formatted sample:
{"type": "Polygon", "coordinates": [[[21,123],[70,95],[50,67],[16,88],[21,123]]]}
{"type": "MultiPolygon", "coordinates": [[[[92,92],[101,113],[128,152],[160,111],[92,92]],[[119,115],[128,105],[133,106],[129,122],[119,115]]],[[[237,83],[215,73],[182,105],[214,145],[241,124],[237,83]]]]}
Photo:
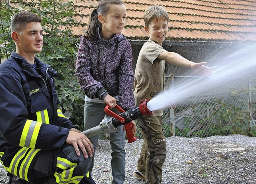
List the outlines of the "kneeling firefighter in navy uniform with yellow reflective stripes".
{"type": "Polygon", "coordinates": [[[11,31],[16,52],[0,65],[0,160],[9,184],[95,184],[94,146],[58,108],[57,72],[35,56],[41,18],[18,12],[11,31]]]}

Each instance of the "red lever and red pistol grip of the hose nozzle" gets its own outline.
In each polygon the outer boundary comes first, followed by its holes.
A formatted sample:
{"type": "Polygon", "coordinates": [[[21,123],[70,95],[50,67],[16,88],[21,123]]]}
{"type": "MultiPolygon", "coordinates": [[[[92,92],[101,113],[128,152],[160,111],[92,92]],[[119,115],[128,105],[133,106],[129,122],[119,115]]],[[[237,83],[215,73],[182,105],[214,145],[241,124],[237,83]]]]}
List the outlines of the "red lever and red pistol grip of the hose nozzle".
{"type": "MultiPolygon", "coordinates": [[[[116,104],[115,109],[116,109],[118,112],[120,112],[120,113],[125,112],[125,111],[124,111],[120,106],[118,106],[117,104],[116,104]]],[[[109,106],[108,106],[108,105],[106,105],[104,111],[106,112],[106,114],[108,114],[108,115],[110,115],[110,116],[116,118],[116,119],[117,119],[118,121],[120,121],[121,123],[124,123],[124,122],[125,122],[125,119],[124,119],[123,117],[121,117],[120,115],[118,115],[118,114],[114,113],[113,111],[111,111],[111,110],[109,109],[109,106]]],[[[126,129],[126,137],[127,137],[127,139],[128,139],[128,143],[132,143],[132,142],[136,141],[137,137],[135,137],[135,136],[132,134],[132,123],[131,123],[131,122],[130,122],[130,123],[127,123],[127,124],[125,124],[124,126],[125,126],[125,129],[126,129]]]]}

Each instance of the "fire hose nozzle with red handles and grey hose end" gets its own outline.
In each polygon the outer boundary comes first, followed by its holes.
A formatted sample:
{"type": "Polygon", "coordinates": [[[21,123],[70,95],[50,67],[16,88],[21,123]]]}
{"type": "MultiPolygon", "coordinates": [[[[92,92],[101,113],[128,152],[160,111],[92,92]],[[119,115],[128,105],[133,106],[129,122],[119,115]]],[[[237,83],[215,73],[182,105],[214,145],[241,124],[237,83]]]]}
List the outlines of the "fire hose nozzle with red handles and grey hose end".
{"type": "Polygon", "coordinates": [[[106,105],[104,111],[110,116],[102,119],[100,125],[92,127],[91,129],[88,129],[81,133],[86,135],[87,137],[92,137],[100,133],[113,133],[116,131],[116,127],[124,125],[126,128],[126,137],[128,139],[128,143],[132,143],[136,141],[137,137],[132,134],[131,121],[138,119],[138,117],[141,116],[151,116],[154,114],[154,111],[150,111],[148,109],[148,101],[148,99],[141,100],[138,106],[131,108],[127,111],[124,111],[122,108],[120,108],[120,106],[116,105],[115,109],[121,113],[119,115],[109,110],[109,106],[106,105]]]}

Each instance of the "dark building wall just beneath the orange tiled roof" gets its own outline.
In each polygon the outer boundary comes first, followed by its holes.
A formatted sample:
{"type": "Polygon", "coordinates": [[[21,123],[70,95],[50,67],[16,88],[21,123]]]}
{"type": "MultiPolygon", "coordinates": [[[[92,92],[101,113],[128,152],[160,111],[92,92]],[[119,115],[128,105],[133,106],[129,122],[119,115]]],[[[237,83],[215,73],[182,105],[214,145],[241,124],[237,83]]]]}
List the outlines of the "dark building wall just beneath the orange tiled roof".
{"type": "MultiPolygon", "coordinates": [[[[130,41],[132,45],[133,62],[132,68],[135,71],[138,54],[145,41],[130,41]]],[[[214,67],[219,63],[227,61],[227,57],[236,53],[239,49],[252,43],[248,42],[172,42],[164,41],[163,48],[170,52],[176,52],[182,57],[198,62],[207,62],[207,66],[214,67]]],[[[254,43],[255,44],[255,43],[254,43]]],[[[166,63],[165,73],[167,75],[191,75],[191,70],[177,67],[166,63]]]]}

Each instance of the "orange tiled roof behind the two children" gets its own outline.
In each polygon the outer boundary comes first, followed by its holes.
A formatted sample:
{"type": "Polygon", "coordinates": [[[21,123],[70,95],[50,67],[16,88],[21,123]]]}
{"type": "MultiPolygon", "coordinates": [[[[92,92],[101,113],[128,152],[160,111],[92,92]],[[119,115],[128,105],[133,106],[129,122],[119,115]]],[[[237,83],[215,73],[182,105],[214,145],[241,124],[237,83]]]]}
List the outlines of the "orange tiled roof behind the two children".
{"type": "MultiPolygon", "coordinates": [[[[73,19],[80,26],[74,34],[84,33],[90,12],[98,0],[76,3],[73,19]]],[[[151,4],[164,6],[169,13],[166,40],[172,41],[256,41],[256,1],[253,0],[124,0],[127,20],[122,33],[128,39],[147,40],[143,13],[151,4]]]]}

